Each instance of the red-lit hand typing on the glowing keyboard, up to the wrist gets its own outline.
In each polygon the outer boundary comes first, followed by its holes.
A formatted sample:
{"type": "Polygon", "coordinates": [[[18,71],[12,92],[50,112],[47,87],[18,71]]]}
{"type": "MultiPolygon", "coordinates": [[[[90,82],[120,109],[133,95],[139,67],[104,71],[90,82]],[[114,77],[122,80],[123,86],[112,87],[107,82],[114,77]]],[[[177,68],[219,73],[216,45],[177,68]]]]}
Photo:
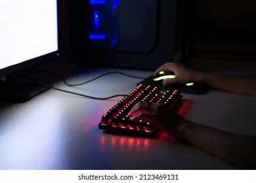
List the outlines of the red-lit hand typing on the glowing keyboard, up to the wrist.
{"type": "Polygon", "coordinates": [[[172,137],[183,139],[182,127],[187,120],[165,105],[140,101],[131,108],[128,116],[131,117],[131,121],[152,122],[172,137]]]}

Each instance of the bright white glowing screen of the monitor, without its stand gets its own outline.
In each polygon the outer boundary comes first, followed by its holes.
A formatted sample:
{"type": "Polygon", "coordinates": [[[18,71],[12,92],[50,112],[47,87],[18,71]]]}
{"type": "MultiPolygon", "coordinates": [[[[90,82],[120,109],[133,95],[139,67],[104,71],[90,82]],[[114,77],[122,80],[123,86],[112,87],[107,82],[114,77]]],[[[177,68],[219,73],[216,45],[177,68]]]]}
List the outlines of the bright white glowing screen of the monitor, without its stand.
{"type": "Polygon", "coordinates": [[[56,0],[1,0],[0,75],[24,69],[20,63],[56,52],[57,22],[56,0]]]}

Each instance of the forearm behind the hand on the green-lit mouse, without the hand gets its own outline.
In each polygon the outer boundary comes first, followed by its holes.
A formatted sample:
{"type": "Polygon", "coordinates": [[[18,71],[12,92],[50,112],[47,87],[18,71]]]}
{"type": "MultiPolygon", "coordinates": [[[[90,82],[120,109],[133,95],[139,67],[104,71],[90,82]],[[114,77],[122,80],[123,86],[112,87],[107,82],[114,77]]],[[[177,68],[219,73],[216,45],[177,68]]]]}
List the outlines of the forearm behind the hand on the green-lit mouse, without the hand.
{"type": "Polygon", "coordinates": [[[221,75],[192,70],[192,78],[195,82],[228,92],[256,96],[256,76],[221,75]]]}

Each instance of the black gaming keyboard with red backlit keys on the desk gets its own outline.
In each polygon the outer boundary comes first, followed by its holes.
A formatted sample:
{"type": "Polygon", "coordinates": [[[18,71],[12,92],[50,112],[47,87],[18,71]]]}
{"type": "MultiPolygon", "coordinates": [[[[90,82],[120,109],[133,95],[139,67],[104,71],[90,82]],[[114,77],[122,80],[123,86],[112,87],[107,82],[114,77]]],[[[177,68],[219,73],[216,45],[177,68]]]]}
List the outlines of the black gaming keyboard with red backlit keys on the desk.
{"type": "Polygon", "coordinates": [[[135,133],[152,134],[157,131],[156,125],[149,121],[132,122],[127,116],[131,108],[139,101],[150,101],[152,103],[162,103],[169,108],[175,107],[181,99],[179,90],[168,90],[164,93],[160,92],[160,88],[156,86],[144,86],[139,84],[127,96],[123,97],[114,107],[110,108],[106,114],[102,116],[99,129],[108,131],[128,131],[135,133]]]}

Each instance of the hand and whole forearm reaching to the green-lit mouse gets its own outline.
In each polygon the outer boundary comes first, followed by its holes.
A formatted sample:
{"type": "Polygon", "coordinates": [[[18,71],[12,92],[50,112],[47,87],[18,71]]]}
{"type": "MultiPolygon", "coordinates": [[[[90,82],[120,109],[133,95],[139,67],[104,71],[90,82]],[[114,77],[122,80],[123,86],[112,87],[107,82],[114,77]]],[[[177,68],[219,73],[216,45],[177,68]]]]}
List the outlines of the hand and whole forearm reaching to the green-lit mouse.
{"type": "Polygon", "coordinates": [[[256,75],[227,75],[219,73],[207,73],[190,69],[181,63],[165,63],[154,72],[157,76],[160,71],[173,71],[175,78],[165,79],[162,84],[187,84],[197,82],[214,88],[219,88],[233,93],[256,96],[256,75]]]}

